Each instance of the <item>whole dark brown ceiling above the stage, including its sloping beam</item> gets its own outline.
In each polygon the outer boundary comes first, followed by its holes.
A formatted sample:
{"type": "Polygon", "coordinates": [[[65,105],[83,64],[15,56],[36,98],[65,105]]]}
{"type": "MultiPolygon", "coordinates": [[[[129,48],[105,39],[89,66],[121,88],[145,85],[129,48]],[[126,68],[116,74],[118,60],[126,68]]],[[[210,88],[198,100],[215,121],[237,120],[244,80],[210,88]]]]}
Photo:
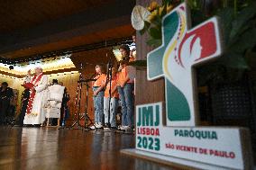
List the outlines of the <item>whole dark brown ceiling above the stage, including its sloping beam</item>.
{"type": "Polygon", "coordinates": [[[129,37],[135,0],[0,0],[0,57],[129,37]]]}

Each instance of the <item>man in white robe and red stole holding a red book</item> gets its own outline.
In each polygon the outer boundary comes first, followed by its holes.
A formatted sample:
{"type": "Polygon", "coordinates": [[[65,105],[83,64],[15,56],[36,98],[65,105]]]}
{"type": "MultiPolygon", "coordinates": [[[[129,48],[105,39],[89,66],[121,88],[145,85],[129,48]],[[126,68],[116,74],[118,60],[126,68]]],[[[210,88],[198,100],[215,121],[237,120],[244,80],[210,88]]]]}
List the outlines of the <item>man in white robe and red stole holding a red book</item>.
{"type": "Polygon", "coordinates": [[[39,125],[45,121],[44,105],[47,102],[46,89],[48,76],[42,74],[42,68],[35,68],[35,76],[26,77],[26,86],[30,88],[30,99],[23,124],[39,125]],[[28,83],[28,81],[30,81],[28,83]]]}

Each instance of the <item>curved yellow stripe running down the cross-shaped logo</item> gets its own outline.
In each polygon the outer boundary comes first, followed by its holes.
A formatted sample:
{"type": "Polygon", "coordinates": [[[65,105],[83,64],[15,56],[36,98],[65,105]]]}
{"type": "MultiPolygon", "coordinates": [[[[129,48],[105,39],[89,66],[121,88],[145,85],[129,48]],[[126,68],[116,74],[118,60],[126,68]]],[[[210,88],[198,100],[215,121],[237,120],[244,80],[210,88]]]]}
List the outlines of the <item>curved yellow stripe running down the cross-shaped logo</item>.
{"type": "MultiPolygon", "coordinates": [[[[186,23],[186,17],[184,14],[182,13],[178,13],[180,18],[181,18],[181,31],[180,31],[180,34],[178,36],[178,39],[180,39],[180,37],[182,37],[184,35],[184,32],[185,32],[185,29],[186,29],[186,26],[187,26],[187,23],[186,23]]],[[[170,53],[173,51],[173,49],[177,46],[177,42],[178,40],[175,40],[169,47],[169,49],[167,50],[167,52],[164,54],[164,57],[163,57],[163,67],[164,67],[164,70],[165,70],[165,73],[167,74],[167,76],[169,76],[169,78],[171,80],[172,79],[172,76],[171,74],[169,73],[169,70],[168,70],[168,59],[169,59],[169,55],[170,53]]]]}

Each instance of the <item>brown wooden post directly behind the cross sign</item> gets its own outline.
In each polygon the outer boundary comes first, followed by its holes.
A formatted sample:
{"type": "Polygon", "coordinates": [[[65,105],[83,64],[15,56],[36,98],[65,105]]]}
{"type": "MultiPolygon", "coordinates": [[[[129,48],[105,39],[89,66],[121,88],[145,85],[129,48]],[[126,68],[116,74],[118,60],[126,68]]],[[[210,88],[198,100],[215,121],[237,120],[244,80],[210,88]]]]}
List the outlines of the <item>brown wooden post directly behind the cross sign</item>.
{"type": "MultiPolygon", "coordinates": [[[[137,0],[136,4],[141,4],[142,6],[147,6],[150,4],[150,0],[137,0]]],[[[151,51],[151,48],[146,44],[147,35],[141,35],[137,31],[136,36],[136,53],[138,59],[146,59],[147,53],[151,51]]],[[[135,85],[136,95],[135,104],[143,103],[156,103],[162,102],[164,98],[164,79],[161,78],[156,81],[147,80],[147,71],[138,70],[136,71],[136,85],[135,85]]]]}

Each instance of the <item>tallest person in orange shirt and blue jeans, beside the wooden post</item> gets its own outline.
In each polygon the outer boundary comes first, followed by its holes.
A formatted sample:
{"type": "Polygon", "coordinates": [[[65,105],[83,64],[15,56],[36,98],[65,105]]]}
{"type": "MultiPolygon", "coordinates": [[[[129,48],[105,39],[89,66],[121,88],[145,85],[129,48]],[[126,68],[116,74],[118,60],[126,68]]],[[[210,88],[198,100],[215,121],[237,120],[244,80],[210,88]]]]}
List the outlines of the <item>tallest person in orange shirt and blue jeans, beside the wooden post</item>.
{"type": "Polygon", "coordinates": [[[130,60],[130,49],[128,45],[122,45],[119,50],[123,57],[118,69],[117,80],[117,90],[122,105],[122,126],[120,129],[131,130],[134,127],[134,80],[129,78],[129,69],[127,69],[127,64],[130,60]]]}

